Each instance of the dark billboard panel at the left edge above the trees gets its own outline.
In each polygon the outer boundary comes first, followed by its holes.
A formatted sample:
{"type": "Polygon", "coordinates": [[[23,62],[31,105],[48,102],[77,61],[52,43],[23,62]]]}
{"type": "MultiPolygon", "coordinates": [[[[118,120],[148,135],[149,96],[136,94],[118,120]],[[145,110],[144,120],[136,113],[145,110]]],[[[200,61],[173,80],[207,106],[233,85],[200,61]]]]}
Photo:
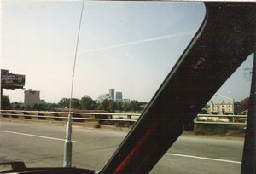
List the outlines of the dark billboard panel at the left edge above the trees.
{"type": "Polygon", "coordinates": [[[1,70],[1,88],[17,89],[25,85],[25,75],[8,73],[8,70],[1,70]]]}

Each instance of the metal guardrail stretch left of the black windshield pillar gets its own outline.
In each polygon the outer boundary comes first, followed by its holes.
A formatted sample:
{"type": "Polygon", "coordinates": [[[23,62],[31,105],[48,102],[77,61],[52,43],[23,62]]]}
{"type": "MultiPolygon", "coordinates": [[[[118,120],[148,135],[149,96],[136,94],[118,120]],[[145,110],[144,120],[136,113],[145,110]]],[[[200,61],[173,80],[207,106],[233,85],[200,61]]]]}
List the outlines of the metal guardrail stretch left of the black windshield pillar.
{"type": "MultiPolygon", "coordinates": [[[[49,111],[25,111],[25,110],[0,110],[2,117],[23,117],[25,119],[38,118],[38,119],[68,119],[69,112],[49,112],[49,111]],[[57,116],[58,115],[58,116],[57,116]]],[[[141,114],[139,113],[78,113],[71,112],[72,119],[76,120],[102,120],[102,121],[127,121],[136,122],[141,114]],[[78,117],[79,116],[79,117],[78,117]],[[83,117],[84,116],[84,117],[83,117]],[[86,117],[85,117],[86,116],[86,117]],[[113,117],[121,117],[120,119],[113,119],[113,117]],[[95,118],[100,117],[100,118],[95,118]],[[108,117],[101,118],[101,117],[108,117]],[[127,119],[123,119],[126,117],[127,119]]]]}

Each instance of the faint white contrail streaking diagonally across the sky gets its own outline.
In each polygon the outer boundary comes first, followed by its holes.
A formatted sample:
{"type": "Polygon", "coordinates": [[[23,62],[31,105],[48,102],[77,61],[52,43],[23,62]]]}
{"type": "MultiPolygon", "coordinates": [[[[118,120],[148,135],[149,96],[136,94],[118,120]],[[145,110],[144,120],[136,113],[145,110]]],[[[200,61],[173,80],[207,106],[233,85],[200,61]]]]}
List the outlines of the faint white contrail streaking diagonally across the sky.
{"type": "Polygon", "coordinates": [[[110,46],[102,47],[102,48],[98,48],[98,49],[85,49],[85,50],[79,51],[79,53],[90,53],[90,52],[96,52],[96,51],[101,51],[101,50],[105,50],[105,49],[116,49],[116,48],[120,48],[120,47],[130,46],[133,44],[142,44],[142,43],[147,43],[147,42],[152,42],[152,41],[157,41],[157,40],[163,40],[166,38],[177,38],[177,37],[189,36],[189,35],[193,35],[193,34],[194,34],[193,32],[179,32],[179,33],[175,33],[175,34],[164,35],[164,36],[159,36],[159,37],[155,37],[155,38],[146,38],[146,39],[132,41],[132,42],[123,43],[123,44],[114,44],[114,45],[110,45],[110,46]]]}

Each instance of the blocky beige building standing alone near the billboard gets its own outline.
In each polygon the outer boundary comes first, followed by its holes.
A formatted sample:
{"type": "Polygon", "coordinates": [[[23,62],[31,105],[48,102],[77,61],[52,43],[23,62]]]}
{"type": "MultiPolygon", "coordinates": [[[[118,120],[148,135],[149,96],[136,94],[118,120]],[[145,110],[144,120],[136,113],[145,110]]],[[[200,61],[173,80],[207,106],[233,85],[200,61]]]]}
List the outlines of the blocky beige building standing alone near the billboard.
{"type": "Polygon", "coordinates": [[[24,107],[25,109],[34,109],[35,105],[40,104],[40,91],[25,90],[24,91],[24,107]]]}

